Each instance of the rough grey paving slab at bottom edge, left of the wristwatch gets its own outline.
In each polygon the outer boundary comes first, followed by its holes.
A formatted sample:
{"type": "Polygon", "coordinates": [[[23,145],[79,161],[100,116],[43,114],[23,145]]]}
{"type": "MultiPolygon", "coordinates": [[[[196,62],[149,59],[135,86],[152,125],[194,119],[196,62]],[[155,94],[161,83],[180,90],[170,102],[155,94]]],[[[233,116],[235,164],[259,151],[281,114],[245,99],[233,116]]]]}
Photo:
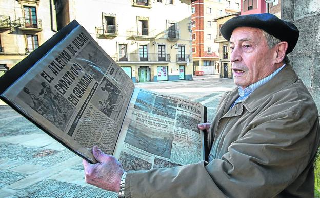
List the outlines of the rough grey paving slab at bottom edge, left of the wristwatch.
{"type": "Polygon", "coordinates": [[[23,189],[8,198],[35,198],[35,197],[105,197],[116,198],[118,195],[103,189],[83,187],[76,184],[44,179],[23,189]]]}

